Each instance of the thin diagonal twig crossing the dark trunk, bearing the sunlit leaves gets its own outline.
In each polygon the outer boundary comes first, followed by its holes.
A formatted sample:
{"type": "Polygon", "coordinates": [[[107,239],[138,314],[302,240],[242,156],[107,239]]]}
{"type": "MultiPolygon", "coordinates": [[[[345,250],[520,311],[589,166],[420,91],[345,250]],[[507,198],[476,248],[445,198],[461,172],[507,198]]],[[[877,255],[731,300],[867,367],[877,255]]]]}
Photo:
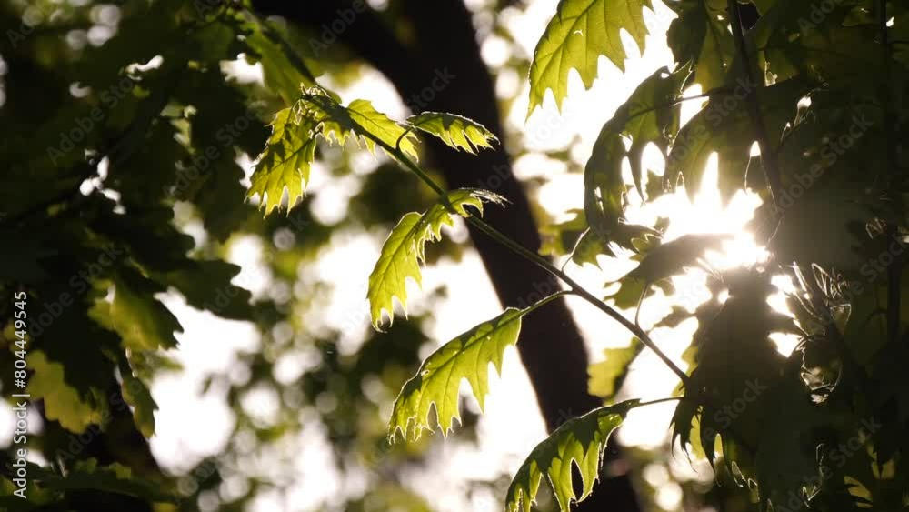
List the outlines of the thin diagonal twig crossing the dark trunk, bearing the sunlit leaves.
{"type": "MultiPolygon", "coordinates": [[[[433,181],[433,178],[431,178],[429,175],[427,175],[423,169],[421,169],[410,158],[408,158],[400,150],[400,148],[392,147],[385,141],[379,139],[376,136],[373,136],[366,130],[363,130],[362,133],[365,134],[365,136],[368,137],[369,139],[373,140],[376,145],[385,149],[385,151],[387,151],[389,155],[395,156],[395,158],[399,162],[404,164],[405,167],[407,167],[409,170],[413,171],[414,174],[416,176],[419,176],[419,178],[421,180],[423,180],[423,182],[427,186],[432,188],[439,196],[441,196],[443,198],[443,200],[445,201],[446,206],[450,206],[450,205],[448,205],[448,199],[447,199],[447,194],[445,193],[445,189],[442,186],[439,186],[438,184],[436,184],[435,181],[433,181]]],[[[602,300],[596,298],[593,294],[591,294],[590,292],[585,290],[584,286],[579,285],[576,281],[574,281],[574,279],[571,278],[571,276],[568,276],[567,274],[564,273],[564,271],[562,271],[558,267],[554,266],[548,259],[546,259],[543,256],[540,256],[540,255],[534,253],[533,251],[527,249],[526,247],[518,244],[517,242],[515,242],[508,236],[504,236],[502,233],[499,233],[493,226],[489,226],[479,217],[467,216],[466,220],[467,220],[468,224],[470,224],[471,226],[474,226],[475,228],[484,232],[484,234],[486,234],[487,236],[490,236],[496,242],[498,242],[502,246],[507,247],[508,249],[510,249],[512,252],[514,252],[518,256],[524,257],[524,259],[530,261],[531,263],[534,263],[536,266],[542,267],[546,272],[549,272],[553,276],[556,276],[559,279],[561,279],[566,285],[569,286],[569,290],[566,292],[567,294],[571,294],[571,295],[579,296],[579,297],[583,298],[585,301],[589,302],[590,304],[592,304],[595,307],[597,307],[598,309],[600,309],[600,311],[603,311],[606,315],[612,317],[616,322],[618,322],[619,324],[624,326],[625,329],[627,329],[632,334],[634,334],[634,336],[637,336],[638,338],[640,338],[641,341],[644,343],[644,346],[653,350],[654,354],[656,354],[656,356],[658,356],[660,358],[660,360],[663,361],[663,363],[667,367],[669,367],[669,369],[672,370],[676,376],[679,377],[679,379],[683,382],[684,385],[688,384],[688,376],[684,373],[684,371],[682,371],[681,368],[676,366],[675,363],[673,362],[673,360],[670,359],[669,356],[666,356],[665,353],[663,352],[663,350],[661,350],[659,346],[656,346],[654,341],[650,338],[650,336],[646,333],[646,331],[644,331],[644,329],[642,329],[640,326],[636,326],[633,322],[631,322],[630,320],[628,320],[627,318],[622,316],[622,314],[619,313],[618,311],[616,311],[613,307],[608,306],[602,300]]],[[[550,296],[550,297],[555,298],[555,296],[550,296]]],[[[546,300],[546,299],[544,299],[544,300],[546,300]]],[[[543,302],[543,301],[541,301],[541,302],[543,302]]],[[[537,303],[537,304],[539,304],[539,303],[537,303]]]]}

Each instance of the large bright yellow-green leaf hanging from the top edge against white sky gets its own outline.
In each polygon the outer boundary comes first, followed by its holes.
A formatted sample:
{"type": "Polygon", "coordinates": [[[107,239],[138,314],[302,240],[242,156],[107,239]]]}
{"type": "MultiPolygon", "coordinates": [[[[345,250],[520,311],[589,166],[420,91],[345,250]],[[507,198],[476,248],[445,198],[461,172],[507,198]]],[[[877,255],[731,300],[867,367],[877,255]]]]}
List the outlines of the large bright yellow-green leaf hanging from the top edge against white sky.
{"type": "Polygon", "coordinates": [[[527,115],[543,104],[550,89],[561,108],[572,69],[584,87],[594,85],[600,55],[624,71],[627,55],[620,33],[627,31],[644,51],[644,7],[653,9],[650,0],[561,0],[534,50],[527,115]]]}

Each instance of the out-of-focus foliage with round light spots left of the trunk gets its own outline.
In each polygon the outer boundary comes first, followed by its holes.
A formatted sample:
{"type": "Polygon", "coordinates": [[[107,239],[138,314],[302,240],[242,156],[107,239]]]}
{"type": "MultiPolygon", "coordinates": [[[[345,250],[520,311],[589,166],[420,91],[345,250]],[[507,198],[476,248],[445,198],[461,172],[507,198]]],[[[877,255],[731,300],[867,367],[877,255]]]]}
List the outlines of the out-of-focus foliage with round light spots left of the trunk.
{"type": "MultiPolygon", "coordinates": [[[[28,467],[24,500],[12,495],[19,446],[5,450],[0,505],[244,510],[300,485],[306,437],[332,448],[341,481],[367,482],[320,507],[430,509],[401,474],[425,466],[431,442],[391,449],[380,414],[419,366],[429,316],[377,334],[363,305],[335,325],[323,311],[336,278],[315,263],[355,236],[378,244],[431,197],[384,156],[325,144],[314,148],[320,172],[340,189],[313,188],[287,216],[264,218],[244,200],[241,163],[265,148],[275,112],[313,83],[309,69],[343,83],[362,66],[340,45],[315,63],[304,32],[245,4],[10,1],[0,26],[0,289],[10,297],[0,306],[0,387],[5,397],[17,389],[12,297],[25,292],[27,447],[42,461],[28,467]],[[261,65],[265,82],[238,74],[237,59],[261,65]],[[318,215],[315,203],[338,192],[344,215],[318,215]],[[250,239],[261,241],[265,267],[227,263],[250,239]],[[257,282],[263,292],[244,289],[257,282]],[[168,307],[181,299],[259,334],[257,350],[200,390],[230,409],[225,447],[174,474],[148,447],[162,407],[148,389],[181,371],[184,329],[168,307]],[[275,399],[275,414],[255,407],[262,397],[275,399]]],[[[446,255],[460,250],[444,242],[426,257],[446,255]]],[[[208,350],[219,341],[205,340],[208,350]]],[[[469,412],[462,420],[465,432],[474,427],[469,412]]]]}

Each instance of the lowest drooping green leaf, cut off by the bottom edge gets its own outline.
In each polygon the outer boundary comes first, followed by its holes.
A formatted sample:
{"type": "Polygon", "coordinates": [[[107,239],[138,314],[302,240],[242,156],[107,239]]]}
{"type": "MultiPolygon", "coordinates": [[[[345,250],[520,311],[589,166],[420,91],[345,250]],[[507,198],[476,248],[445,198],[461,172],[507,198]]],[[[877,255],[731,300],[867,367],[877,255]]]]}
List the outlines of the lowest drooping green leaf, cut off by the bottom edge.
{"type": "Polygon", "coordinates": [[[588,497],[600,475],[606,442],[628,411],[638,404],[638,400],[628,400],[611,407],[600,407],[556,428],[517,470],[508,487],[505,510],[530,512],[544,477],[563,512],[568,512],[572,501],[579,502],[588,497]],[[583,490],[580,497],[574,493],[573,467],[581,474],[583,490]]]}

